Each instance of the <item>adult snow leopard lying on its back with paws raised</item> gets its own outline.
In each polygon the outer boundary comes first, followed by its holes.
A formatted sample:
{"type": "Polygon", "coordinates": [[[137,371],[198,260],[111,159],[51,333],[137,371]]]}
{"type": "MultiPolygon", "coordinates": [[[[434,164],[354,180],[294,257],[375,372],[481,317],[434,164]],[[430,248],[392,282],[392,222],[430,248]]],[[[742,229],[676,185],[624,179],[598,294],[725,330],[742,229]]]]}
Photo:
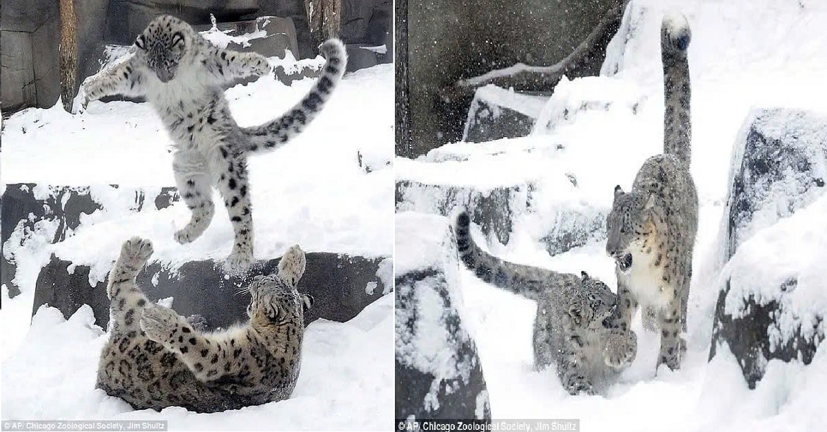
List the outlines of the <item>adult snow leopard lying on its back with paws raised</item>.
{"type": "Polygon", "coordinates": [[[299,377],[304,314],[313,305],[312,295],[296,290],[301,248],[284,253],[278,274],[252,279],[246,324],[215,333],[194,329],[141,292],[135,279],[151,254],[151,242],[131,238],[109,274],[109,338],[96,387],[136,410],[217,412],[288,398],[299,377]]]}

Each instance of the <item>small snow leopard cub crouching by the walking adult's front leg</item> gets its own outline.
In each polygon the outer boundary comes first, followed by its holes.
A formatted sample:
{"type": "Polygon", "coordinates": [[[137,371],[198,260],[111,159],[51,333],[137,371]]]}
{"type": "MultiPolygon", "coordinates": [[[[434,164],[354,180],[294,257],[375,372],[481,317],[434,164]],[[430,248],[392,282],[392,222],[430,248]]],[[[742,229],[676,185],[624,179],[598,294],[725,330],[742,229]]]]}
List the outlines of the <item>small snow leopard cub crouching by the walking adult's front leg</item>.
{"type": "Polygon", "coordinates": [[[581,276],[505,262],[482,251],[471,238],[471,218],[457,216],[455,235],[462,262],[485,282],[537,301],[534,367],[557,364],[571,395],[595,394],[634,360],[638,338],[619,329],[617,296],[586,272],[581,276]]]}

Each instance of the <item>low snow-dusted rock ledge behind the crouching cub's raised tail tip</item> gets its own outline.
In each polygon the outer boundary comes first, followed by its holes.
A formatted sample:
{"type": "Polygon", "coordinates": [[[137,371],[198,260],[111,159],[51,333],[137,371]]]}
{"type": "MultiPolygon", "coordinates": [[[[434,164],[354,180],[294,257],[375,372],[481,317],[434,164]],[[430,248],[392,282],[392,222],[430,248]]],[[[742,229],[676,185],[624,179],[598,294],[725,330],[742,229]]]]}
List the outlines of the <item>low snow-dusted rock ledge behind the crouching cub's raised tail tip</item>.
{"type": "Polygon", "coordinates": [[[436,185],[397,176],[396,211],[447,216],[462,207],[486,237],[494,234],[500,243],[507,244],[512,215],[525,211],[532,188],[532,184],[525,183],[480,190],[473,185],[436,185]]]}

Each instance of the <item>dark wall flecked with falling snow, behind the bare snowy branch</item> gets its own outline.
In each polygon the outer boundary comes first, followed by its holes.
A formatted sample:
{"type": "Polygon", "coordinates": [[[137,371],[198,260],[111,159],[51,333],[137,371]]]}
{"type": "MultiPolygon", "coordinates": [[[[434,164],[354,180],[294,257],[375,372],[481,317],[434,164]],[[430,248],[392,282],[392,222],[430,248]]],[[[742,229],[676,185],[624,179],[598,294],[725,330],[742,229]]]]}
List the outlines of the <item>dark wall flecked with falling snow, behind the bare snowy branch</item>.
{"type": "Polygon", "coordinates": [[[407,2],[408,61],[397,67],[408,70],[409,106],[399,114],[408,117],[411,137],[408,142],[397,142],[396,153],[415,157],[446,142],[460,141],[474,94],[454,92],[453,84],[459,79],[517,63],[556,64],[614,7],[616,19],[567,76],[598,74],[605,47],[619,26],[620,3],[622,0],[407,2]]]}

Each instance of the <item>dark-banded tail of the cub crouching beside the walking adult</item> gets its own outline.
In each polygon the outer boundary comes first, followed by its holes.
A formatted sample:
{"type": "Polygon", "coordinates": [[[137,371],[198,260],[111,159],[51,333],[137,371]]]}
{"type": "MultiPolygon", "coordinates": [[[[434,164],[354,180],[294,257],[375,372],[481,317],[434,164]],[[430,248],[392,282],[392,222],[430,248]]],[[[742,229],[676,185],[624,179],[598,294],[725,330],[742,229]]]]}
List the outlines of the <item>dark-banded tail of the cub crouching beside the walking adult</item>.
{"type": "Polygon", "coordinates": [[[576,276],[557,273],[547,269],[523,266],[503,261],[480,249],[471,238],[471,218],[462,212],[457,216],[454,235],[457,236],[457,251],[466,267],[474,271],[481,280],[504,290],[522,295],[531,300],[547,297],[547,290],[559,286],[568,277],[576,276]]]}

